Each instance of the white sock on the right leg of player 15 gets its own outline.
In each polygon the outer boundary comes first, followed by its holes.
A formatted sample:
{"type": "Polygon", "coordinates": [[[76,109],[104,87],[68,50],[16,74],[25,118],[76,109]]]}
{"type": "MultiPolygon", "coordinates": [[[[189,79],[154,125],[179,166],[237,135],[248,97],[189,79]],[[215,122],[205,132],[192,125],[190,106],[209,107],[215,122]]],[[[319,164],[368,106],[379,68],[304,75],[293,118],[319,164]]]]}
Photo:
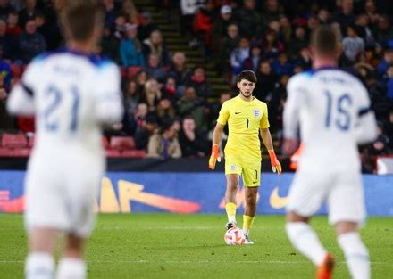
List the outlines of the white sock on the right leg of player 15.
{"type": "Polygon", "coordinates": [[[370,258],[367,248],[355,232],[341,234],[339,246],[344,252],[347,266],[353,279],[371,278],[370,258]]]}

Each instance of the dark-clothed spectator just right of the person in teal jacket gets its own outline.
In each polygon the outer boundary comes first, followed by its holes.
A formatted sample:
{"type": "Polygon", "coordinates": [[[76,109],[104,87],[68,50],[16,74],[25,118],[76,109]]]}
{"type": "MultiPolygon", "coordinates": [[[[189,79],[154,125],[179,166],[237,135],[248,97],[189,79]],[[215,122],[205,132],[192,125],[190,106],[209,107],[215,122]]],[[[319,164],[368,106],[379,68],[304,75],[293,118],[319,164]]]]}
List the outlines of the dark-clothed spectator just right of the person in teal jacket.
{"type": "Polygon", "coordinates": [[[159,57],[159,62],[161,65],[169,66],[171,62],[170,56],[166,45],[163,43],[163,35],[160,30],[154,30],[150,34],[150,37],[143,41],[142,50],[145,57],[149,57],[151,53],[154,53],[159,57]]]}

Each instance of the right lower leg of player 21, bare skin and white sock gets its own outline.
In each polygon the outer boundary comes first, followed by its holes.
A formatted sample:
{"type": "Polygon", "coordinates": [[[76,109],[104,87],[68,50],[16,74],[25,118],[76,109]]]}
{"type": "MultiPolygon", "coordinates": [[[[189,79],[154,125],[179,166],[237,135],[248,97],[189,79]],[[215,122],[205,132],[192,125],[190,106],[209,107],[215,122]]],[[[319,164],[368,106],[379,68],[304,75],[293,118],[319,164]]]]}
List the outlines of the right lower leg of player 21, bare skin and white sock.
{"type": "Polygon", "coordinates": [[[56,279],[86,278],[86,263],[83,259],[85,239],[74,234],[65,238],[63,258],[57,267],[56,279]]]}

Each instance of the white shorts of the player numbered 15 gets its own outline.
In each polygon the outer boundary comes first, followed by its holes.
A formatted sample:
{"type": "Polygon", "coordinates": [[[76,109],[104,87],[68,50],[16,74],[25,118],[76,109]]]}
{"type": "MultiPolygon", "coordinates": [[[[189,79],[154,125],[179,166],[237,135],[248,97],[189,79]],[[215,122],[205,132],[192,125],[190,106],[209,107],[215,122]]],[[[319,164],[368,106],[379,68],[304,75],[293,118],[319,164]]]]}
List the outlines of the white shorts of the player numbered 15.
{"type": "Polygon", "coordinates": [[[287,211],[311,217],[326,201],[329,222],[365,220],[364,189],[358,171],[313,172],[299,170],[288,193],[287,211]]]}

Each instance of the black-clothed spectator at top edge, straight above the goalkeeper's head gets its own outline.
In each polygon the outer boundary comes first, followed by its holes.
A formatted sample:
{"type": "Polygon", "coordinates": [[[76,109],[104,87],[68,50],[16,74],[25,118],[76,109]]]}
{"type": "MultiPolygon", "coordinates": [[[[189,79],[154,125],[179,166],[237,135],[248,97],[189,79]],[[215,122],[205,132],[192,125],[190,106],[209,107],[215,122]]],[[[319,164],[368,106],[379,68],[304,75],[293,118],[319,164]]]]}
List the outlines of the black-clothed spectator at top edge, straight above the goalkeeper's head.
{"type": "Polygon", "coordinates": [[[255,11],[255,0],[244,0],[244,6],[234,13],[234,20],[238,22],[239,34],[243,37],[253,37],[261,18],[255,11]]]}

